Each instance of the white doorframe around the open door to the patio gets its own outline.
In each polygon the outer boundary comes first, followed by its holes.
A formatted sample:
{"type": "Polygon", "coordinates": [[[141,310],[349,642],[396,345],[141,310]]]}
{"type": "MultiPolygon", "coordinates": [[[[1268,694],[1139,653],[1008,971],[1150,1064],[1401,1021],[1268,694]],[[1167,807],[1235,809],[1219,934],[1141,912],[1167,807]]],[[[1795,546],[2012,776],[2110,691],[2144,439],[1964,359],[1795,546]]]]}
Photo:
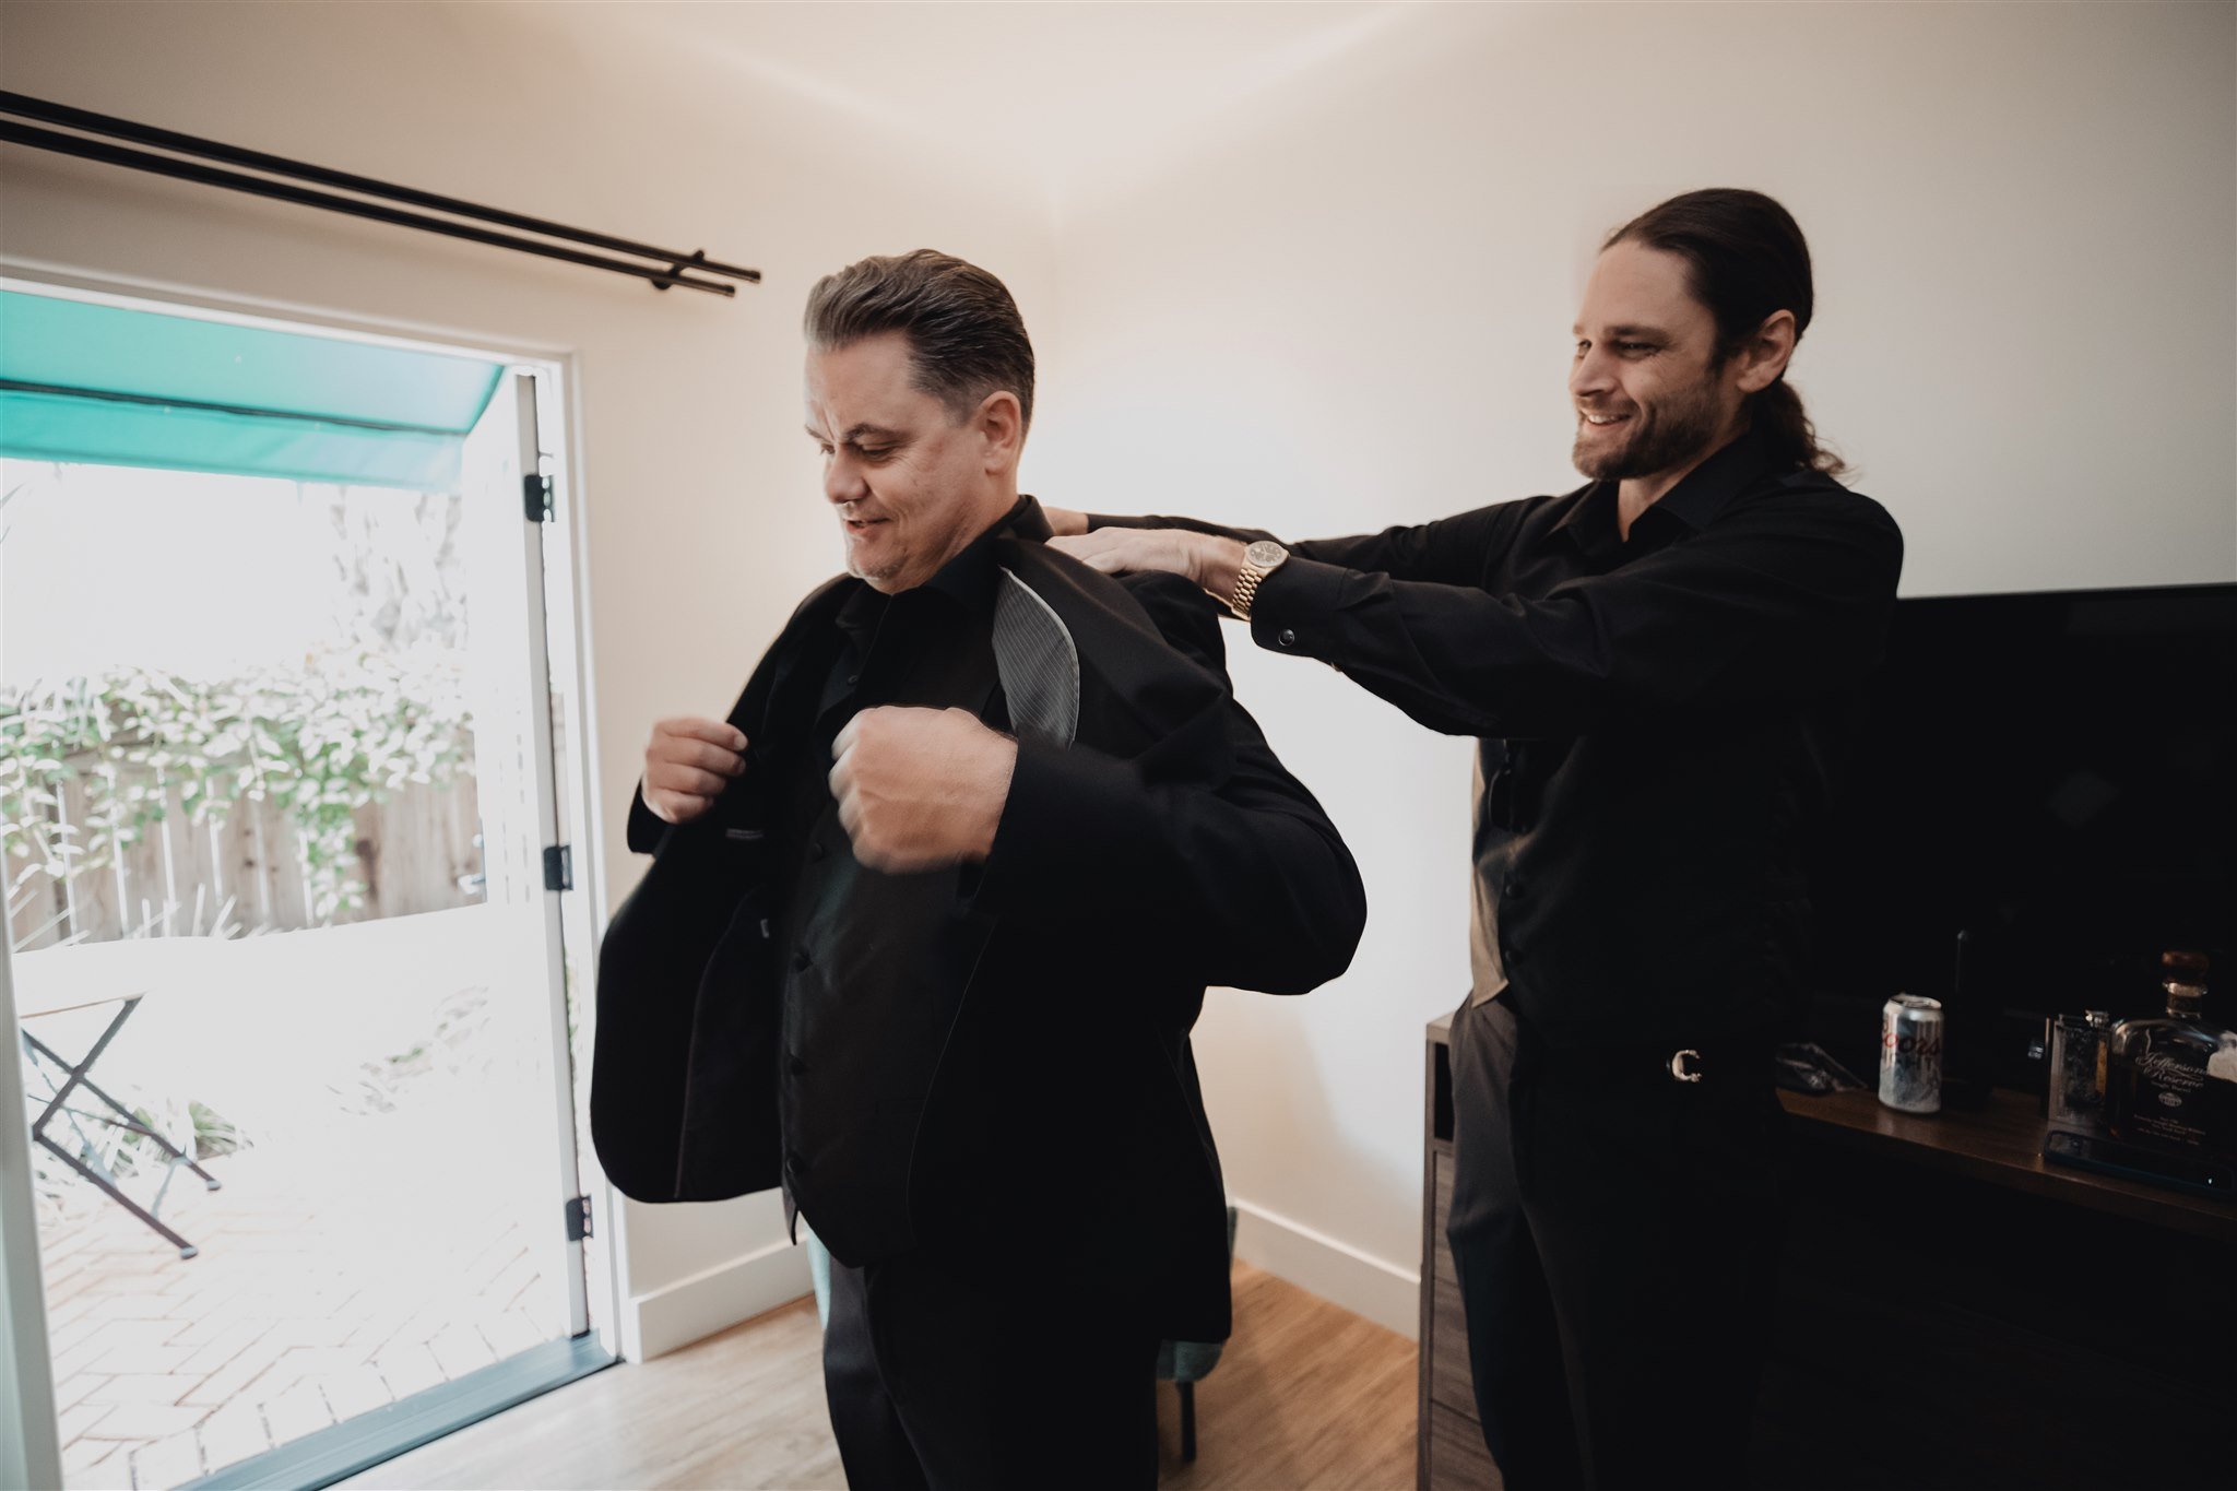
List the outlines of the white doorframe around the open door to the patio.
{"type": "MultiPolygon", "coordinates": [[[[570,834],[575,841],[573,854],[573,879],[575,887],[559,892],[566,896],[579,896],[584,908],[584,921],[588,923],[593,937],[588,946],[582,948],[577,966],[582,968],[582,988],[568,988],[568,999],[586,1019],[595,1019],[595,988],[597,988],[597,930],[604,925],[606,914],[606,816],[600,811],[600,711],[597,711],[597,680],[593,668],[593,597],[591,597],[591,572],[588,572],[588,507],[591,498],[586,483],[579,472],[586,469],[584,463],[584,409],[582,409],[582,371],[579,353],[564,342],[535,342],[515,335],[492,335],[488,331],[450,326],[443,322],[405,322],[394,317],[378,317],[353,313],[340,306],[302,304],[273,297],[235,295],[224,291],[210,291],[206,286],[192,286],[168,279],[145,279],[136,275],[110,275],[110,273],[87,273],[83,268],[51,264],[43,259],[22,259],[0,253],[0,291],[22,288],[45,295],[63,295],[69,300],[87,300],[96,304],[114,304],[136,311],[163,311],[174,308],[204,320],[219,320],[239,326],[266,326],[273,331],[322,331],[333,333],[344,340],[369,342],[374,346],[398,346],[407,351],[430,351],[450,353],[468,358],[485,358],[490,362],[506,362],[517,367],[528,367],[539,376],[550,376],[559,389],[559,409],[566,422],[561,431],[564,438],[553,443],[546,458],[548,476],[553,478],[553,530],[561,536],[566,545],[566,570],[568,570],[568,595],[573,606],[568,612],[568,644],[573,650],[573,671],[568,684],[575,688],[579,700],[579,738],[582,751],[575,753],[575,769],[568,773],[570,780],[553,782],[555,791],[568,794],[582,811],[573,816],[570,834]]],[[[7,941],[0,939],[0,963],[9,957],[7,941]]],[[[0,966],[0,979],[7,977],[4,966],[0,966]]],[[[9,1001],[13,1010],[13,1001],[9,1001]]],[[[568,1091],[573,1104],[573,1082],[568,1091]]],[[[626,1301],[622,1299],[622,1281],[629,1276],[629,1238],[624,1234],[624,1209],[620,1205],[620,1194],[606,1178],[604,1167],[597,1162],[597,1151],[588,1142],[588,1120],[586,1113],[575,1113],[575,1149],[577,1169],[582,1174],[584,1194],[591,1196],[591,1232],[604,1241],[604,1247],[591,1252],[595,1267],[588,1267],[584,1279],[586,1297],[591,1301],[604,1301],[600,1310],[593,1312],[591,1335],[606,1357],[620,1361],[622,1357],[622,1319],[626,1301]]],[[[4,1200],[4,1196],[0,1196],[4,1200]]],[[[36,1259],[36,1221],[31,1229],[34,1259],[36,1259]]],[[[34,1276],[34,1285],[36,1285],[34,1276]]],[[[0,1276],[0,1292],[11,1290],[13,1281],[0,1276]]],[[[0,1299],[0,1305],[7,1301],[0,1299]]],[[[49,1381],[51,1402],[51,1337],[45,1332],[45,1310],[38,1312],[40,1339],[36,1346],[45,1352],[40,1370],[49,1381]]],[[[13,1321],[11,1321],[13,1323],[13,1321]]]]}

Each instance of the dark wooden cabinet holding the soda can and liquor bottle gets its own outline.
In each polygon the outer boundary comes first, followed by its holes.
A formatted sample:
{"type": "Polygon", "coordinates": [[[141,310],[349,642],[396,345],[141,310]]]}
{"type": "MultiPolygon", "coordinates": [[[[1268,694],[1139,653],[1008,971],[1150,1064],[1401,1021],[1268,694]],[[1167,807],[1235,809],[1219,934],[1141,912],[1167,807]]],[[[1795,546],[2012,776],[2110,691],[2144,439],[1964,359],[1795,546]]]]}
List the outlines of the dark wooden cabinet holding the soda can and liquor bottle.
{"type": "MultiPolygon", "coordinates": [[[[1425,1044],[1416,1487],[1499,1487],[1467,1375],[1450,1017],[1425,1044]]],[[[1781,1093],[1792,1198],[1756,1487],[2230,1484],[2237,1205],[2042,1160],[2031,1095],[1781,1093]]]]}

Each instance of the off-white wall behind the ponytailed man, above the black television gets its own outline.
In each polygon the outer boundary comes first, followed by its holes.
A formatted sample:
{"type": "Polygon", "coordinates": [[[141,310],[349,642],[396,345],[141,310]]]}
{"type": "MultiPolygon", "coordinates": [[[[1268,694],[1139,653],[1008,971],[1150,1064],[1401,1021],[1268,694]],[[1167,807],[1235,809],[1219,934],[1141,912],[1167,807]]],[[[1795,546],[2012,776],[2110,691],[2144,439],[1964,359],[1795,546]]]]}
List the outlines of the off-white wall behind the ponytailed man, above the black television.
{"type": "MultiPolygon", "coordinates": [[[[1038,492],[1311,536],[1568,490],[1599,235],[1754,186],[1810,235],[1794,380],[1901,521],[1906,592],[2233,579],[2233,18],[1414,11],[1208,121],[1192,161],[1067,206],[1038,492]]],[[[1371,908],[1344,979],[1215,993],[1199,1026],[1242,1252],[1409,1330],[1423,1022],[1467,981],[1470,751],[1228,637],[1371,908]]]]}

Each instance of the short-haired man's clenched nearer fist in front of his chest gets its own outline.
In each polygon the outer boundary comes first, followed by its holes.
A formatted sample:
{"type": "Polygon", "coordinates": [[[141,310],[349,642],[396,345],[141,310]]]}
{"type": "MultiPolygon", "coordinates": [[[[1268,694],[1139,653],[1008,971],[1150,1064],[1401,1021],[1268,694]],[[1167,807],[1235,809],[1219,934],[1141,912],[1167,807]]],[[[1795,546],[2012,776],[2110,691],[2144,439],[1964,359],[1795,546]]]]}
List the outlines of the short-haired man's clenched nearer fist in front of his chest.
{"type": "Polygon", "coordinates": [[[832,796],[855,858],[906,874],[984,861],[1018,742],[969,709],[866,709],[832,742],[832,796]]]}

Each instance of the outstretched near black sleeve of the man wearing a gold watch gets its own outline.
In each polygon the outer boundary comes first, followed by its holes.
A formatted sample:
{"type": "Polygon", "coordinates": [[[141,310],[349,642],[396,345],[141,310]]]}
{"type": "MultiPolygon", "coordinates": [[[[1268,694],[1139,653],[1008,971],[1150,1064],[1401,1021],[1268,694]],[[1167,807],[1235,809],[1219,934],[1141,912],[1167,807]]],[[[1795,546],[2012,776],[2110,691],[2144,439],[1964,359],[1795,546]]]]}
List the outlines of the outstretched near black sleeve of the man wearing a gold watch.
{"type": "Polygon", "coordinates": [[[1295,559],[1250,635],[1454,735],[1577,735],[1640,711],[1799,702],[1872,666],[1904,539],[1839,487],[1716,523],[1544,597],[1295,559]]]}

